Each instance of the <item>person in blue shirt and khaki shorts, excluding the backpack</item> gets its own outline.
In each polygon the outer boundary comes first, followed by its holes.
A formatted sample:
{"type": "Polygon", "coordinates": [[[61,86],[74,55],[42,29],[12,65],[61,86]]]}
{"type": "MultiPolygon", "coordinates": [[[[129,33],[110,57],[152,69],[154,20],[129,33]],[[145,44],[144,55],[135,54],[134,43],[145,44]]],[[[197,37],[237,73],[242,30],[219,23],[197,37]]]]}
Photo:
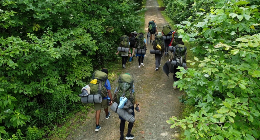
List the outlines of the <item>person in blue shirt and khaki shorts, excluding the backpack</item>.
{"type": "MultiPolygon", "coordinates": [[[[106,68],[102,69],[101,72],[105,72],[106,74],[108,74],[108,70],[106,68]]],[[[108,79],[106,79],[106,81],[105,81],[105,88],[106,88],[106,91],[107,91],[105,93],[108,96],[106,95],[107,97],[104,97],[101,103],[94,103],[94,107],[95,107],[95,110],[96,110],[96,129],[95,129],[95,131],[99,131],[101,129],[101,126],[99,125],[99,118],[100,118],[101,109],[104,108],[104,110],[105,110],[105,119],[109,119],[109,116],[110,116],[110,111],[108,111],[107,98],[110,97],[110,99],[113,99],[113,97],[112,97],[112,94],[111,94],[111,91],[110,91],[111,86],[110,86],[110,82],[109,82],[108,79]]],[[[86,86],[81,89],[81,91],[83,91],[83,90],[87,90],[86,86]]],[[[112,101],[113,100],[111,100],[110,105],[112,104],[112,101]]]]}

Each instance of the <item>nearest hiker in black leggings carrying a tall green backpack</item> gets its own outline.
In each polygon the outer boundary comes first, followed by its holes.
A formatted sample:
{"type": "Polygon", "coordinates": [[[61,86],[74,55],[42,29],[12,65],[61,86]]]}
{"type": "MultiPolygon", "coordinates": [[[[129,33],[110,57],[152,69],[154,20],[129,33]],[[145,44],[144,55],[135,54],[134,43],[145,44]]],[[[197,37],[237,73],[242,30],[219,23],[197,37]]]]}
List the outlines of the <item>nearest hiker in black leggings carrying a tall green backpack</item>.
{"type": "MultiPolygon", "coordinates": [[[[140,111],[140,106],[139,106],[138,101],[136,100],[135,89],[134,89],[133,83],[134,83],[134,80],[129,73],[120,74],[119,79],[118,79],[118,86],[115,89],[114,101],[118,105],[120,105],[120,97],[125,95],[125,98],[127,98],[127,100],[129,100],[129,101],[131,100],[132,106],[129,109],[132,110],[131,114],[133,116],[135,116],[134,105],[136,105],[136,107],[139,108],[137,111],[140,111]],[[129,81],[130,83],[123,82],[123,81],[129,81]],[[125,84],[125,83],[127,83],[127,84],[125,84]],[[125,89],[127,89],[127,90],[125,90],[125,89]]],[[[125,131],[125,119],[123,119],[121,116],[119,116],[119,119],[120,119],[120,126],[119,126],[120,140],[123,140],[124,131],[125,131]]],[[[125,139],[129,140],[129,139],[134,138],[134,135],[131,134],[133,126],[134,126],[134,123],[130,123],[130,122],[128,123],[128,131],[127,131],[125,139]]]]}

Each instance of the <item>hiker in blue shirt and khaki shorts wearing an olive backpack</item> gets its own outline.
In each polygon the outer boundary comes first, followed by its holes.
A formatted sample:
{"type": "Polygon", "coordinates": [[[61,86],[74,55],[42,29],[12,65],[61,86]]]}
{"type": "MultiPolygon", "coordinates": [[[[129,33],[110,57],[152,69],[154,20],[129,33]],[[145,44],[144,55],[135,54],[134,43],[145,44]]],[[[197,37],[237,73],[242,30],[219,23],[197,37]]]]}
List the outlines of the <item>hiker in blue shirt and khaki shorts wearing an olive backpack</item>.
{"type": "MultiPolygon", "coordinates": [[[[94,107],[95,107],[95,110],[96,110],[96,129],[95,129],[95,131],[99,131],[100,129],[101,129],[101,126],[99,125],[99,118],[100,118],[100,112],[101,112],[101,109],[102,108],[104,108],[104,110],[105,110],[105,119],[109,119],[109,116],[110,116],[110,112],[108,111],[108,105],[107,105],[107,98],[108,97],[110,97],[110,99],[113,99],[112,98],[112,94],[111,94],[111,86],[110,86],[110,82],[109,82],[109,80],[107,79],[107,74],[108,74],[108,70],[106,69],[106,68],[104,68],[104,69],[102,69],[101,71],[96,71],[96,72],[99,72],[98,73],[98,75],[102,75],[102,77],[105,77],[106,76],[106,80],[104,81],[105,82],[105,89],[104,89],[104,91],[105,92],[103,92],[102,93],[102,91],[101,91],[101,95],[104,95],[105,97],[103,97],[103,100],[102,100],[102,102],[101,103],[94,103],[94,107]],[[106,75],[105,75],[106,74],[106,75]],[[103,75],[105,75],[105,76],[103,76],[103,75]]],[[[94,74],[93,75],[95,75],[95,73],[96,72],[94,72],[94,74]]],[[[95,78],[95,77],[93,77],[92,76],[92,79],[93,78],[95,78]]],[[[99,77],[98,79],[102,79],[101,77],[99,77]]],[[[95,79],[94,79],[95,80],[95,79]]],[[[101,84],[102,85],[102,84],[101,84]]],[[[99,85],[98,85],[99,86],[99,85]]],[[[85,87],[83,87],[82,89],[81,89],[81,91],[83,91],[83,90],[87,90],[87,88],[86,88],[87,86],[85,86],[85,87]]],[[[91,87],[91,84],[90,84],[90,87],[91,87]]],[[[103,87],[103,86],[101,86],[101,87],[103,87]]],[[[90,88],[90,91],[91,91],[91,89],[92,89],[92,91],[93,91],[93,87],[91,87],[90,88]]],[[[101,88],[102,89],[102,88],[101,88]]],[[[93,92],[91,91],[91,94],[93,94],[93,92]]],[[[113,100],[111,100],[110,101],[110,105],[112,104],[112,101],[113,100]]]]}

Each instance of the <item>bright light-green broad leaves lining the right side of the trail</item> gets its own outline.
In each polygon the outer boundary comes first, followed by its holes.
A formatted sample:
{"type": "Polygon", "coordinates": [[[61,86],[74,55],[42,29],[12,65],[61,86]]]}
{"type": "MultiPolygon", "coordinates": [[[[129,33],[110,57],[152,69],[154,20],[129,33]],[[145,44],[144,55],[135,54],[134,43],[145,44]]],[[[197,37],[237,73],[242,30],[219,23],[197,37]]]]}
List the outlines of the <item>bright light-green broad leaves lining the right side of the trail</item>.
{"type": "Polygon", "coordinates": [[[194,41],[198,69],[180,68],[174,83],[187,92],[186,103],[196,112],[170,118],[187,140],[254,140],[260,136],[260,16],[259,0],[216,0],[210,12],[176,25],[179,37],[194,41]]]}

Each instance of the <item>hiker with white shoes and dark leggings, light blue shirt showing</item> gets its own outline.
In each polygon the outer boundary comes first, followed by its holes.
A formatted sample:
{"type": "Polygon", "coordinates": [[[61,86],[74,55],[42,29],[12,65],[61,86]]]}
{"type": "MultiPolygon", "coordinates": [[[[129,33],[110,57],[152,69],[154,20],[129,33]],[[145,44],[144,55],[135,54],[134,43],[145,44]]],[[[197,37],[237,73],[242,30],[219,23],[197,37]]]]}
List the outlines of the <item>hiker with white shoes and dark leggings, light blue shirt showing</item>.
{"type": "MultiPolygon", "coordinates": [[[[139,33],[139,34],[135,37],[135,39],[136,39],[136,45],[135,45],[135,47],[140,46],[139,49],[145,49],[145,50],[146,50],[146,45],[147,45],[147,43],[146,43],[146,40],[145,40],[144,33],[139,33]]],[[[137,48],[137,49],[138,49],[138,48],[137,48]]],[[[139,49],[138,49],[138,50],[139,50],[139,49]]],[[[138,54],[138,53],[136,53],[136,54],[135,54],[135,57],[137,57],[137,56],[138,56],[138,68],[140,68],[141,65],[144,66],[145,54],[138,54]],[[141,63],[141,62],[142,62],[142,63],[141,63]]]]}

